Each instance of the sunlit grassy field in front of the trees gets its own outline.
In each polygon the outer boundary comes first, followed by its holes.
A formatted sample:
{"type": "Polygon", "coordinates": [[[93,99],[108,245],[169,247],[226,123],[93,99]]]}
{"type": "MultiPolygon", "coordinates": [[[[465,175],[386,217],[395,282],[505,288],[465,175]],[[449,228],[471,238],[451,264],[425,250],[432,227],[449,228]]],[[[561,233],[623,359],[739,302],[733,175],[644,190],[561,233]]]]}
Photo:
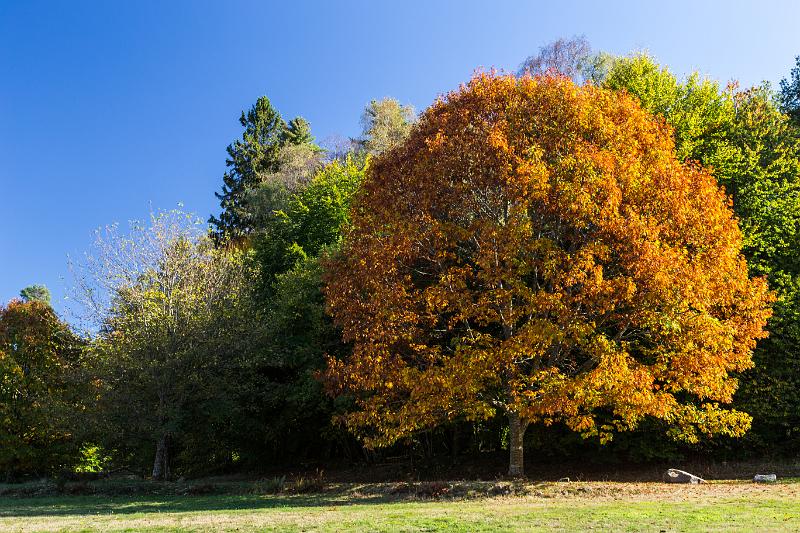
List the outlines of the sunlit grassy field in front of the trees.
{"type": "Polygon", "coordinates": [[[200,489],[212,493],[0,496],[0,531],[800,531],[800,480],[200,489]]]}

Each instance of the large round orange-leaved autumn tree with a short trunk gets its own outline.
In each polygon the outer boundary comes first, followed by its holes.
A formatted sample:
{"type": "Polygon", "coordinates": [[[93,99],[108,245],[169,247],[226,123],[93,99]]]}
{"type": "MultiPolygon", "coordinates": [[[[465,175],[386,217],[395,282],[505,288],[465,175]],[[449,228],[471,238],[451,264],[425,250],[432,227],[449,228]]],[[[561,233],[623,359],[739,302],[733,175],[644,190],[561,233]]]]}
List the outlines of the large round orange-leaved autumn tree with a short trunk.
{"type": "Polygon", "coordinates": [[[715,179],[635,99],[479,75],[371,166],[327,264],[353,352],[326,382],[368,446],[504,415],[512,476],[531,423],[738,436],[729,373],[770,301],[740,250],[715,179]]]}

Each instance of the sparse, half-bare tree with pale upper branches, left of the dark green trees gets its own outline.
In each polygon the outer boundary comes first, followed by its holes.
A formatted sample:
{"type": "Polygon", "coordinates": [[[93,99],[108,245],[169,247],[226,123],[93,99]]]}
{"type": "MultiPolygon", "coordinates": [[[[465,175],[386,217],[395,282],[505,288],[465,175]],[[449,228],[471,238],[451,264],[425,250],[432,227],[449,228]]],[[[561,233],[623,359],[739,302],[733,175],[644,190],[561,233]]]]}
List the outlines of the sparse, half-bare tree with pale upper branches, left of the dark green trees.
{"type": "Polygon", "coordinates": [[[215,248],[201,229],[178,212],[130,235],[109,228],[78,280],[100,325],[92,355],[102,444],[139,465],[149,454],[155,479],[231,453],[231,383],[253,313],[243,308],[242,253],[215,248]]]}

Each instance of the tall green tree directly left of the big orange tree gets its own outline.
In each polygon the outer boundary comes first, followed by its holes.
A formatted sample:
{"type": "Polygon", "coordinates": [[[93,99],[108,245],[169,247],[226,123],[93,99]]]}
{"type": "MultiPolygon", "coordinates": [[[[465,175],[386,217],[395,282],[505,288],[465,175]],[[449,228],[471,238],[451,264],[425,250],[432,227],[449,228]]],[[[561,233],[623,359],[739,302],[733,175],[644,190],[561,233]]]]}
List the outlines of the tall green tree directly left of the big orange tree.
{"type": "Polygon", "coordinates": [[[291,193],[281,183],[261,187],[268,211],[250,256],[261,340],[246,362],[238,401],[249,457],[319,455],[342,435],[331,427],[333,402],[314,377],[326,353],[345,349],[325,313],[319,257],[338,245],[368,164],[355,157],[330,162],[291,193]]]}

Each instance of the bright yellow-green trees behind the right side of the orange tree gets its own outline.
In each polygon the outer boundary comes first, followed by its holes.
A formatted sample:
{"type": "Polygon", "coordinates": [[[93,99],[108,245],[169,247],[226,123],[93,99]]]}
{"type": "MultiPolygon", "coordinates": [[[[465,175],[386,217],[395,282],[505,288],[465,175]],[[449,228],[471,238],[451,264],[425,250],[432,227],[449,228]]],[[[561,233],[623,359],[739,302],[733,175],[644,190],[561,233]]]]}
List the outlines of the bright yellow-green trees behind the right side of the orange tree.
{"type": "Polygon", "coordinates": [[[768,85],[741,90],[692,73],[678,79],[652,57],[613,57],[598,81],[624,90],[672,127],[681,160],[711,168],[733,201],[751,274],[766,275],[777,302],[755,368],[741,376],[735,405],[753,415],[751,448],[800,447],[800,132],[768,85]]]}

